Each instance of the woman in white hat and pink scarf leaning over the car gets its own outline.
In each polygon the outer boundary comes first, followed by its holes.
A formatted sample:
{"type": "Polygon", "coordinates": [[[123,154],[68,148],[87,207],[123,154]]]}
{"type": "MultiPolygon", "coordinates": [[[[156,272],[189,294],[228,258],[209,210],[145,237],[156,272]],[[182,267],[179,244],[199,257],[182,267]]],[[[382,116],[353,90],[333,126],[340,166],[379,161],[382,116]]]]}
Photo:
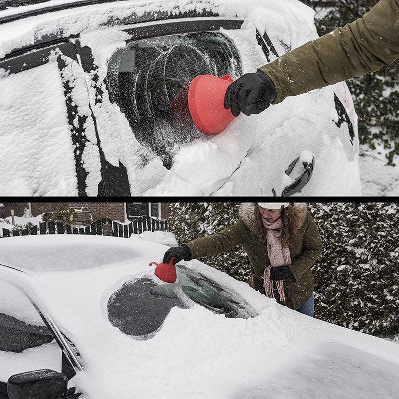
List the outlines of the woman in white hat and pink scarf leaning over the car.
{"type": "Polygon", "coordinates": [[[252,288],[278,303],[313,316],[311,266],[320,258],[322,241],[304,203],[243,203],[231,227],[169,248],[164,263],[216,255],[242,245],[248,255],[252,288]]]}

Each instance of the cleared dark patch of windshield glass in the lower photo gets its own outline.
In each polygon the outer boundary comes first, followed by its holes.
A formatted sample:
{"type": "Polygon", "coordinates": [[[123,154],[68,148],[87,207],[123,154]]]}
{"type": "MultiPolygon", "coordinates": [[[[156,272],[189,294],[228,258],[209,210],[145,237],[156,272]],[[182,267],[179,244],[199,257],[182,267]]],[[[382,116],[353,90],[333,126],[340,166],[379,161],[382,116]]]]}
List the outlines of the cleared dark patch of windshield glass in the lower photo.
{"type": "Polygon", "coordinates": [[[111,324],[138,339],[149,339],[162,327],[174,306],[199,304],[229,318],[255,317],[257,312],[237,293],[184,266],[177,281],[159,284],[151,278],[125,282],[108,300],[111,324]]]}

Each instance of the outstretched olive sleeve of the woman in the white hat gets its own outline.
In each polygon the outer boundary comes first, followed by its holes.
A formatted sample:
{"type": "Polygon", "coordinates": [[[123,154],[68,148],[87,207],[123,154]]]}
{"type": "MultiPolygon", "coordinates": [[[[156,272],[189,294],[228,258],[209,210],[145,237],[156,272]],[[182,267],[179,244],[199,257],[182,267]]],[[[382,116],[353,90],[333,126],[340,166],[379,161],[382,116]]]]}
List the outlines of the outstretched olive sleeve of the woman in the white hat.
{"type": "Polygon", "coordinates": [[[242,244],[245,238],[245,226],[238,220],[233,226],[226,227],[216,234],[197,238],[186,243],[193,259],[216,255],[242,244]]]}

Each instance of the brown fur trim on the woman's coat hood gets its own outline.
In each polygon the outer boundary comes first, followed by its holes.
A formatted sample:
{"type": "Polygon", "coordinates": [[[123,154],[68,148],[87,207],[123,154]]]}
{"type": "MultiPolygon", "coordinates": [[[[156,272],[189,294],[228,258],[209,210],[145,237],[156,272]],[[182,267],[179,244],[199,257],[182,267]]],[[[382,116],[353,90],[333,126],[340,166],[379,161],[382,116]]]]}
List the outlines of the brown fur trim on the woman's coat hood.
{"type": "MultiPolygon", "coordinates": [[[[297,231],[304,224],[309,212],[308,204],[295,202],[292,206],[292,230],[297,231]]],[[[266,232],[263,227],[259,206],[256,202],[243,202],[239,207],[239,216],[249,230],[263,242],[266,241],[266,232]]]]}

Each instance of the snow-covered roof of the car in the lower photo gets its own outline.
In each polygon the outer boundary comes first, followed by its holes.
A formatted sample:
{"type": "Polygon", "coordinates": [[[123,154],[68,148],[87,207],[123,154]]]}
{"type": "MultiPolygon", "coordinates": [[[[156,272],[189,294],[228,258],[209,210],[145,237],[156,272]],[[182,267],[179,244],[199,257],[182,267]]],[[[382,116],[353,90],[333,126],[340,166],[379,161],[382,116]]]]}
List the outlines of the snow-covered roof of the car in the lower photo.
{"type": "Polygon", "coordinates": [[[70,271],[159,261],[166,246],[137,238],[91,235],[37,235],[1,238],[0,264],[27,273],[70,271]],[[144,261],[146,259],[146,261],[144,261]]]}

